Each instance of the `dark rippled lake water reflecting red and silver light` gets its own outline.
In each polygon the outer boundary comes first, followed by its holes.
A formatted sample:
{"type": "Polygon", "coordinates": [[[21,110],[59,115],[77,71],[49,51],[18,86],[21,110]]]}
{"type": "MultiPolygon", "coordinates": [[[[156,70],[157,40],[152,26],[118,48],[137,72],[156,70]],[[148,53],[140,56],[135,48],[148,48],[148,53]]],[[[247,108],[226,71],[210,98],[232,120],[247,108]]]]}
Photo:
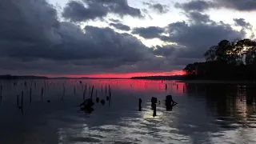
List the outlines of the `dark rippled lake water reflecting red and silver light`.
{"type": "Polygon", "coordinates": [[[82,84],[74,80],[26,82],[27,86],[24,81],[14,86],[13,82],[1,81],[1,144],[256,143],[254,86],[184,83],[177,86],[174,81],[144,80],[82,80],[82,84]],[[95,104],[92,114],[82,112],[78,105],[85,85],[86,98],[90,97],[89,86],[94,86],[94,99],[96,90],[99,98],[106,99],[105,86],[110,85],[110,106],[108,102],[105,106],[95,104]],[[23,114],[17,108],[17,94],[20,106],[22,90],[23,114]],[[172,94],[178,102],[172,111],[166,111],[164,105],[167,94],[172,94]],[[161,101],[156,117],[150,109],[153,96],[161,101]],[[141,112],[138,98],[142,98],[141,112]]]}

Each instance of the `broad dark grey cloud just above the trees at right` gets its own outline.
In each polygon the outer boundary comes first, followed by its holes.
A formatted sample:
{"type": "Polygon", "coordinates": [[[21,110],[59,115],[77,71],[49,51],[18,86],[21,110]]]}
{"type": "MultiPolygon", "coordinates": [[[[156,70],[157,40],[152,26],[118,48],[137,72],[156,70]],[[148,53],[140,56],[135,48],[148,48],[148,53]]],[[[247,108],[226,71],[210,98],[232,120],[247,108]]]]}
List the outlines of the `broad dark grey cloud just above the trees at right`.
{"type": "MultiPolygon", "coordinates": [[[[174,42],[170,45],[171,53],[165,52],[166,46],[156,47],[158,54],[166,58],[203,58],[210,46],[216,45],[223,39],[234,40],[245,38],[245,32],[234,30],[230,24],[214,22],[206,14],[190,12],[186,14],[189,22],[173,22],[166,26],[167,36],[159,36],[164,42],[174,42]]],[[[168,50],[168,49],[167,49],[168,50]]],[[[154,52],[154,53],[155,53],[154,52]]]]}

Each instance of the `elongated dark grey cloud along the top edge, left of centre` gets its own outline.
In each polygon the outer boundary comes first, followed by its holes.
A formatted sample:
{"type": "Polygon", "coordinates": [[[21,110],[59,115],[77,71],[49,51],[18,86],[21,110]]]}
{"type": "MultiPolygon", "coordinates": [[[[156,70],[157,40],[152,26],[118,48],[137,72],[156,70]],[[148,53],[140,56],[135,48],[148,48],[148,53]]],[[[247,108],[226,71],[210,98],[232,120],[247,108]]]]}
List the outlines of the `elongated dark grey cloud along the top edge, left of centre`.
{"type": "Polygon", "coordinates": [[[94,20],[106,17],[107,14],[118,14],[123,17],[142,17],[141,10],[128,5],[127,0],[83,0],[70,1],[66,4],[62,16],[73,22],[94,20]]]}

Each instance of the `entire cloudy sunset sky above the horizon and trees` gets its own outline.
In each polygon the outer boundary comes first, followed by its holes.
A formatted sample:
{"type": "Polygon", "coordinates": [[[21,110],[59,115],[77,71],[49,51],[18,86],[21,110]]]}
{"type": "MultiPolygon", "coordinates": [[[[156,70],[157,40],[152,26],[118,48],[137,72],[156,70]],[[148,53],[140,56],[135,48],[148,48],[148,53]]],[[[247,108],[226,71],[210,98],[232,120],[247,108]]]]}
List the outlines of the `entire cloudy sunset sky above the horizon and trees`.
{"type": "Polygon", "coordinates": [[[254,0],[0,0],[0,74],[183,74],[223,39],[252,38],[254,0]]]}

